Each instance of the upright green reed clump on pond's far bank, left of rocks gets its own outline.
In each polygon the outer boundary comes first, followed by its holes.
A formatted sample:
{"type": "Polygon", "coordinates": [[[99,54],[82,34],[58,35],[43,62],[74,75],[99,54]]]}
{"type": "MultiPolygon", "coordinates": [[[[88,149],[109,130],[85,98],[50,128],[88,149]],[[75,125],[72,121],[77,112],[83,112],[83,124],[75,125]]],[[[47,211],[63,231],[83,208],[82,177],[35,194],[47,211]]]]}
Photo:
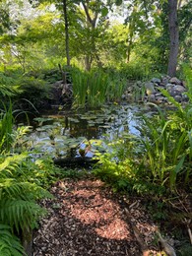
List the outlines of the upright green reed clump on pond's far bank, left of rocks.
{"type": "Polygon", "coordinates": [[[119,100],[127,85],[125,77],[101,69],[90,72],[73,69],[71,75],[75,107],[97,107],[119,100]]]}

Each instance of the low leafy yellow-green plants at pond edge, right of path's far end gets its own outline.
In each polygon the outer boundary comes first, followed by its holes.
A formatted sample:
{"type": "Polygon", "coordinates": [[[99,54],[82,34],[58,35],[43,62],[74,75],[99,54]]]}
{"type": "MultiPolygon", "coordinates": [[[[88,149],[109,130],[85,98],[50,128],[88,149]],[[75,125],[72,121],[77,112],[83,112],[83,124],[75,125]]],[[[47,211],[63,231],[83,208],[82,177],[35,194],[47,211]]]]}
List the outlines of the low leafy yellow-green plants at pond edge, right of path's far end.
{"type": "MultiPolygon", "coordinates": [[[[130,140],[116,140],[107,145],[107,152],[100,156],[93,172],[102,180],[110,183],[114,190],[132,190],[137,183],[138,167],[133,158],[133,147],[136,142],[130,140]]],[[[135,155],[135,156],[136,156],[135,155]]]]}

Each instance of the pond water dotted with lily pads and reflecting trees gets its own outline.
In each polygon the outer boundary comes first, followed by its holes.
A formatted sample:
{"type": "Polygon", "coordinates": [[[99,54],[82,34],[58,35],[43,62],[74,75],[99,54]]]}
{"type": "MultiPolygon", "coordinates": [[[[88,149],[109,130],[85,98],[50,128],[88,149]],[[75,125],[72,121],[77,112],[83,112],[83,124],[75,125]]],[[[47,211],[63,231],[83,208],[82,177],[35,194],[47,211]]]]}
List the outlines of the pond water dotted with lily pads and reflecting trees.
{"type": "Polygon", "coordinates": [[[88,145],[93,152],[103,150],[103,142],[125,135],[140,136],[141,113],[148,112],[144,105],[104,105],[100,109],[53,111],[33,119],[34,129],[26,137],[28,148],[38,154],[56,158],[81,157],[88,145]]]}

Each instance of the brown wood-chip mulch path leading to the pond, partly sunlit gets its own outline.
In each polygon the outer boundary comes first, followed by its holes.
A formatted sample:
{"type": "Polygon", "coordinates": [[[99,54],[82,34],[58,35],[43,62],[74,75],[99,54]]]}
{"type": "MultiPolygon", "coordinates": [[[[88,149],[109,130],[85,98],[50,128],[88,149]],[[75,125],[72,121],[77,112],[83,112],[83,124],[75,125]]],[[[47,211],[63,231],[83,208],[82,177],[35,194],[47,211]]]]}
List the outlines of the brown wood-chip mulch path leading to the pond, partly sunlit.
{"type": "MultiPolygon", "coordinates": [[[[33,233],[33,256],[144,255],[157,229],[138,198],[123,198],[96,178],[58,181],[48,216],[33,233]]],[[[160,254],[159,254],[160,255],[160,254]]]]}

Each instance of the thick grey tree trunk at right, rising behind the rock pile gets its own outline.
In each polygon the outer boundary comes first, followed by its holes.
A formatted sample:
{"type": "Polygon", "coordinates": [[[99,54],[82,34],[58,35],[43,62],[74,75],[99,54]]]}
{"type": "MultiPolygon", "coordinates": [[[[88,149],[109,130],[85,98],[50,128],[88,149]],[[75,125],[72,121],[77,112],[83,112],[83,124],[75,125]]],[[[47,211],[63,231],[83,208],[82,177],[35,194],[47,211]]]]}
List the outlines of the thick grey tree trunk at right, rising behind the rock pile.
{"type": "Polygon", "coordinates": [[[170,50],[169,50],[167,74],[170,77],[174,77],[176,74],[177,56],[178,56],[178,47],[179,47],[177,0],[168,0],[168,29],[169,29],[169,38],[170,38],[170,50]]]}

